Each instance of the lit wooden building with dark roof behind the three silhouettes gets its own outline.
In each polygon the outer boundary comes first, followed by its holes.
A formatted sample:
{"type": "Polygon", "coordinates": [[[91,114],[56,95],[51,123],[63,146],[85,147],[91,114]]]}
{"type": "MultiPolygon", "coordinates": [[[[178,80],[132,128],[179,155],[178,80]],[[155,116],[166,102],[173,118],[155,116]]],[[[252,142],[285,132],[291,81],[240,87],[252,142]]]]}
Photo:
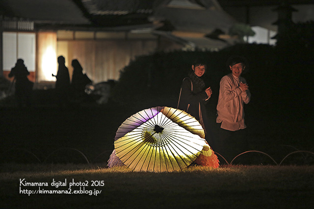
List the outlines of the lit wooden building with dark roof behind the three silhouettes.
{"type": "Polygon", "coordinates": [[[118,80],[119,71],[136,56],[158,50],[219,50],[236,42],[228,30],[243,15],[245,22],[253,20],[249,12],[236,16],[252,1],[231,1],[1,0],[0,75],[7,78],[22,58],[35,87],[52,88],[57,57],[63,55],[70,76],[71,61],[78,59],[98,83],[118,80]]]}

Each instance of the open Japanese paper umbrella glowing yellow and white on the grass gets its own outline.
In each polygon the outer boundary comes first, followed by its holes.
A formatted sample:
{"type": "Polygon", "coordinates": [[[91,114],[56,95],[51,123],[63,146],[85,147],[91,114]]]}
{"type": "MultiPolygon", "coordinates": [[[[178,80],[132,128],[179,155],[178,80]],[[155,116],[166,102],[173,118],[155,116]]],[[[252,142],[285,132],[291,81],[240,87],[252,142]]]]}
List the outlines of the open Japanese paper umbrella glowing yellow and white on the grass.
{"type": "Polygon", "coordinates": [[[206,140],[201,124],[182,110],[155,107],[126,119],[118,128],[117,157],[136,171],[179,171],[201,154],[206,140]]]}

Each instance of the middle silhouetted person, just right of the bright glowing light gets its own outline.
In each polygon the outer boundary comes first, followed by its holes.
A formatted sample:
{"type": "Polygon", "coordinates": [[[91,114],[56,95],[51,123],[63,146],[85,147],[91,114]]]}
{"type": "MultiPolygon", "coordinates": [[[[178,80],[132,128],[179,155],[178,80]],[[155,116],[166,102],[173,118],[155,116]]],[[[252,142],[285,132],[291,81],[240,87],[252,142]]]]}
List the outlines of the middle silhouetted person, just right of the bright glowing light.
{"type": "MultiPolygon", "coordinates": [[[[70,90],[70,75],[69,70],[65,66],[65,59],[63,56],[58,57],[58,72],[55,82],[55,91],[57,96],[57,101],[59,105],[66,105],[68,103],[68,94],[70,90]]],[[[52,74],[52,76],[54,76],[52,74]]]]}

